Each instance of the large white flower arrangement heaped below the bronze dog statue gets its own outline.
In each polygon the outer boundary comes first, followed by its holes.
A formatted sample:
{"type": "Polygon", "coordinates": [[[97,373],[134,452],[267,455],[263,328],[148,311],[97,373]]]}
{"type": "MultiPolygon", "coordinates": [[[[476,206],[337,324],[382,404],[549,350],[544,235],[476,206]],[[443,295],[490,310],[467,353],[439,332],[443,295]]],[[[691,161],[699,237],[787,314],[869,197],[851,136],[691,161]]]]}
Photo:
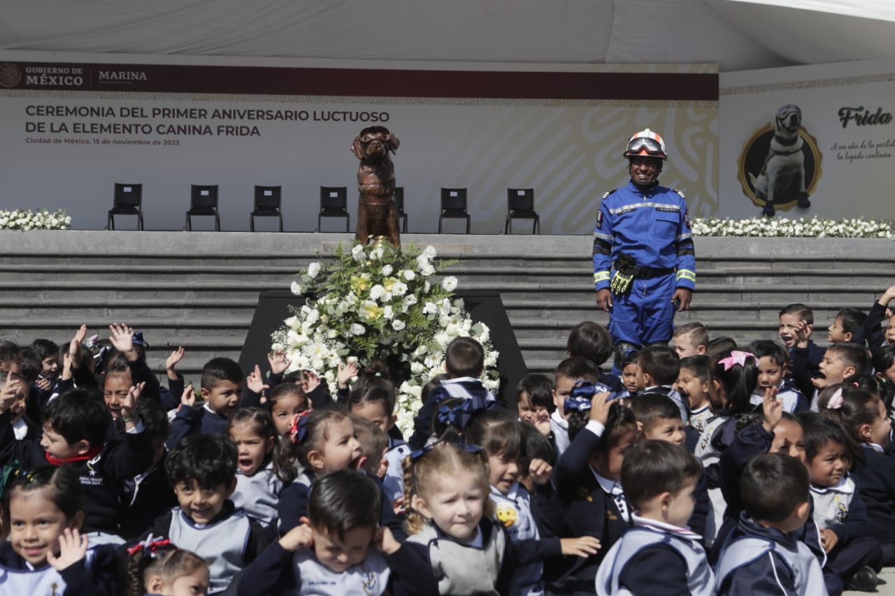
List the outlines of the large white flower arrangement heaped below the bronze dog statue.
{"type": "Polygon", "coordinates": [[[444,261],[432,246],[413,244],[396,251],[391,245],[341,243],[332,260],[315,261],[292,284],[296,295],[311,294],[294,316],[274,332],[273,350],[285,350],[290,370],[313,370],[336,393],[339,364],[362,366],[378,357],[400,363],[407,379],[396,380],[397,426],[409,436],[419,410],[422,386],[444,372],[445,347],[458,336],[470,336],[485,349],[482,381],[499,387],[499,353],[490,344],[490,329],[473,322],[463,300],[454,298],[456,277],[433,279],[444,261]]]}

